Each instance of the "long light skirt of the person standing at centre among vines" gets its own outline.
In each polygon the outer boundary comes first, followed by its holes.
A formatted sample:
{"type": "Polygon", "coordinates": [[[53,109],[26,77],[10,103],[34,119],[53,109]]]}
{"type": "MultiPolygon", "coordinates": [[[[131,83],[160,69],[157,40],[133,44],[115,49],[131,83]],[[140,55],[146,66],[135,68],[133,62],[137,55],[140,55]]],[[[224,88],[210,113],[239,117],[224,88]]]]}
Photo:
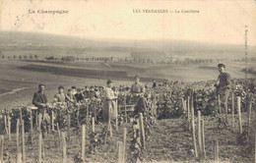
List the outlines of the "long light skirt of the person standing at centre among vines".
{"type": "Polygon", "coordinates": [[[117,118],[117,103],[114,100],[104,101],[102,108],[103,122],[108,123],[109,121],[117,118]]]}

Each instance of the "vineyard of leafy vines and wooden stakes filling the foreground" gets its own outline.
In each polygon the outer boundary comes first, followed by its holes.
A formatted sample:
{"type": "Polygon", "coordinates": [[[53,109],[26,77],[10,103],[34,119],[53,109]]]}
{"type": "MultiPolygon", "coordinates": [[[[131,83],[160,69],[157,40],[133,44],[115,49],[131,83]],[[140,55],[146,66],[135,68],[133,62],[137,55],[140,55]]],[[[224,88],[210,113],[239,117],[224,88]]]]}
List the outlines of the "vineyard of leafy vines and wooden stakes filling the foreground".
{"type": "Polygon", "coordinates": [[[232,80],[227,114],[214,83],[163,83],[137,104],[120,88],[108,125],[102,97],[52,102],[43,117],[31,105],[1,110],[0,162],[254,162],[256,80],[232,80]]]}

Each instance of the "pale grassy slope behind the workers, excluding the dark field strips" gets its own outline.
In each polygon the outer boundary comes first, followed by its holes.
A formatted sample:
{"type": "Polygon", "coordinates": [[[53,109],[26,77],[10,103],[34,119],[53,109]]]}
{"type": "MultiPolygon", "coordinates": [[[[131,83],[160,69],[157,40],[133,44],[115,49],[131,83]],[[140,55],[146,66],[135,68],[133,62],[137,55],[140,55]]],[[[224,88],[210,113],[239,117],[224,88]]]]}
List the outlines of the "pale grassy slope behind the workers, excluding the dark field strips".
{"type": "MultiPolygon", "coordinates": [[[[0,89],[2,92],[10,91],[15,88],[30,87],[25,90],[18,91],[14,94],[7,94],[0,97],[0,103],[2,108],[10,108],[19,106],[21,104],[31,104],[32,94],[36,91],[37,85],[39,83],[45,83],[47,85],[46,91],[48,97],[51,100],[53,95],[57,92],[58,85],[62,84],[67,88],[72,85],[77,85],[78,87],[84,87],[85,85],[105,85],[105,81],[111,77],[103,78],[81,78],[72,76],[56,75],[46,72],[35,72],[35,71],[25,71],[19,69],[20,66],[26,66],[27,62],[19,61],[0,61],[0,89]],[[2,81],[7,80],[7,81],[2,81]]],[[[63,66],[63,65],[62,65],[63,66]]],[[[74,66],[74,65],[72,65],[74,66]]],[[[218,71],[216,70],[216,65],[210,65],[211,69],[198,68],[198,66],[149,66],[149,65],[94,65],[94,64],[81,64],[82,68],[96,68],[98,70],[126,70],[128,77],[134,77],[139,74],[141,77],[154,78],[154,79],[168,79],[171,81],[207,81],[215,80],[218,77],[218,71]]],[[[240,72],[243,65],[228,65],[227,72],[230,73],[232,78],[243,78],[244,73],[240,72]]],[[[63,67],[66,67],[65,65],[63,67]]],[[[252,77],[252,76],[249,76],[252,77]]],[[[122,81],[119,79],[115,80],[114,85],[128,84],[131,85],[133,79],[128,81],[122,81]]],[[[146,83],[146,81],[144,82],[146,83]]],[[[149,82],[151,85],[151,82],[149,82]]]]}

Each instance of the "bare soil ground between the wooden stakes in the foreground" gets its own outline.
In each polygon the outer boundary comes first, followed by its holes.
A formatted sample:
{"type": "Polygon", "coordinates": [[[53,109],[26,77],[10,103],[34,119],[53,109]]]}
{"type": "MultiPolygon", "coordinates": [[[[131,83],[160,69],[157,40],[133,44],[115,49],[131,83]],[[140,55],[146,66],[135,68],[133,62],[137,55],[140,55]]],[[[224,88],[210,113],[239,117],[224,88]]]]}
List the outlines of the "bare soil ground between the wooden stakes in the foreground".
{"type": "MultiPolygon", "coordinates": [[[[228,117],[229,123],[230,118],[228,117]]],[[[205,121],[205,141],[206,141],[206,162],[214,160],[214,139],[219,137],[220,143],[220,160],[221,162],[253,162],[253,152],[249,151],[246,145],[240,145],[236,142],[238,133],[238,118],[235,116],[235,128],[232,130],[217,128],[218,118],[207,116],[203,117],[205,121]]],[[[243,124],[246,124],[246,116],[242,117],[243,124]]],[[[197,119],[195,120],[197,124],[197,119]]],[[[150,139],[146,141],[146,149],[142,153],[143,162],[197,162],[194,158],[192,137],[189,132],[184,132],[180,127],[182,119],[168,119],[158,121],[152,128],[150,139]]],[[[117,160],[117,141],[122,141],[123,127],[127,131],[131,131],[131,125],[122,125],[116,132],[113,130],[113,137],[108,137],[105,145],[96,148],[96,151],[90,151],[90,137],[92,134],[92,126],[87,128],[86,138],[86,161],[87,162],[116,162],[117,160]]],[[[96,133],[100,133],[103,128],[102,124],[96,125],[96,133]]],[[[197,130],[197,128],[196,128],[197,130]]],[[[33,131],[32,145],[26,141],[27,162],[36,162],[38,159],[38,133],[33,131]]],[[[68,162],[74,162],[74,157],[81,152],[81,131],[72,129],[70,141],[67,141],[67,158],[68,162]]],[[[26,139],[29,139],[27,135],[26,139]]],[[[43,162],[62,162],[62,147],[59,146],[58,134],[50,133],[43,139],[44,158],[43,162]]],[[[126,149],[129,150],[131,133],[127,135],[126,149]]],[[[20,144],[20,147],[22,145],[20,144]]],[[[15,160],[16,136],[12,136],[12,140],[6,137],[5,149],[8,149],[11,160],[15,160]]],[[[20,148],[21,151],[22,148],[20,148]]],[[[130,162],[130,153],[126,153],[126,160],[130,162]]]]}

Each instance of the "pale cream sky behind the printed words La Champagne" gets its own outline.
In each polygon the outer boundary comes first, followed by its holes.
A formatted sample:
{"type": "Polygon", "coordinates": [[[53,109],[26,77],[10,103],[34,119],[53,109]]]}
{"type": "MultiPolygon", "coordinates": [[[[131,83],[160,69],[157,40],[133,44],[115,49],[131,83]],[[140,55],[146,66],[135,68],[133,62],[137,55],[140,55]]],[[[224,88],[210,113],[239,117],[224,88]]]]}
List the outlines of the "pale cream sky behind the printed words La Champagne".
{"type": "Polygon", "coordinates": [[[0,0],[0,29],[94,39],[179,39],[256,45],[255,0],[0,0]],[[141,13],[134,13],[134,10],[141,13]],[[173,13],[143,13],[163,9],[173,13]],[[68,14],[29,14],[67,10],[68,14]],[[175,13],[194,10],[199,13],[175,13]]]}

